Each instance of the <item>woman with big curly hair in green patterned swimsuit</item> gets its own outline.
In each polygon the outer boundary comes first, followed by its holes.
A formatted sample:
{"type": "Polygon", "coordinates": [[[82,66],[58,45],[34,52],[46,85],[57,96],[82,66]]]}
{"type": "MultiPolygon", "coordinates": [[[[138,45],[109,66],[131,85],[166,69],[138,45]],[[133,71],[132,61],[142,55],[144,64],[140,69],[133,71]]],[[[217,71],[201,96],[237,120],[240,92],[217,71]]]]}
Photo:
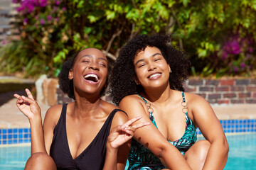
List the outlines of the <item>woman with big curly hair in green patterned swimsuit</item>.
{"type": "Polygon", "coordinates": [[[168,35],[138,35],[112,70],[110,94],[129,118],[151,125],[134,133],[128,169],[223,169],[228,142],[210,104],[184,93],[190,63],[168,35]],[[206,138],[196,142],[196,128],[206,138]]]}

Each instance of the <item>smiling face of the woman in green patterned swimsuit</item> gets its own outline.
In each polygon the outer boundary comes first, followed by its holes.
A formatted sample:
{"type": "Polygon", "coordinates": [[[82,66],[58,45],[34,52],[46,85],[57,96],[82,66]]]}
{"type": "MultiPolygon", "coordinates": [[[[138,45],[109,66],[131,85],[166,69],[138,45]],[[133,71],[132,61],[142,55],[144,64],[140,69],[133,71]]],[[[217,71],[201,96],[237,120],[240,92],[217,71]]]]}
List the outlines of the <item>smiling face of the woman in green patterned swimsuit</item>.
{"type": "Polygon", "coordinates": [[[169,84],[171,68],[157,47],[146,47],[134,57],[135,81],[144,89],[169,84]]]}

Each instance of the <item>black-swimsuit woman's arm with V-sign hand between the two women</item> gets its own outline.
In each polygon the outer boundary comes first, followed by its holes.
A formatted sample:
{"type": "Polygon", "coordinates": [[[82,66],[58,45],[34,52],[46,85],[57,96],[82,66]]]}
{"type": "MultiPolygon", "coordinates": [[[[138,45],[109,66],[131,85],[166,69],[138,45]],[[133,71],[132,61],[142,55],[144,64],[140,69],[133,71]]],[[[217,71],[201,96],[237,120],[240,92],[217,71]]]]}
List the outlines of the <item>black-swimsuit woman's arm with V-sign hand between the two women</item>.
{"type": "Polygon", "coordinates": [[[138,116],[128,120],[127,115],[116,114],[112,122],[114,128],[111,129],[107,139],[107,153],[103,169],[124,169],[129,154],[129,145],[135,130],[142,128],[149,123],[139,123],[132,125],[142,118],[138,116]],[[127,121],[127,122],[126,122],[127,121]],[[125,123],[126,122],[126,123],[125,123]],[[117,125],[117,126],[116,126],[117,125]]]}

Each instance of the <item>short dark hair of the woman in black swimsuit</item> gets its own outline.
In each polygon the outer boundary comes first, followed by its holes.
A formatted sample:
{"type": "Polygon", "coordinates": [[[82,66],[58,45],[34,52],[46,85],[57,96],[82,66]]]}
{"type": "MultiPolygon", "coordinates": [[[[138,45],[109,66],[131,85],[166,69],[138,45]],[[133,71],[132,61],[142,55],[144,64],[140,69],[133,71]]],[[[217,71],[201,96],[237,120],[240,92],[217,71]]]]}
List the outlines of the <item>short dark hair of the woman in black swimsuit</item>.
{"type": "MultiPolygon", "coordinates": [[[[85,50],[85,49],[83,49],[85,50]]],[[[64,94],[68,94],[68,97],[73,98],[75,100],[75,94],[74,94],[74,84],[73,79],[68,79],[68,74],[70,69],[73,68],[75,64],[75,59],[78,56],[78,54],[81,52],[76,52],[73,57],[70,57],[67,61],[65,61],[62,65],[62,68],[60,70],[60,74],[58,74],[58,84],[60,85],[60,89],[63,91],[64,94]]],[[[106,86],[103,86],[102,90],[100,91],[100,96],[105,95],[105,89],[108,84],[108,77],[110,72],[110,64],[107,64],[107,80],[106,80],[106,86]]]]}

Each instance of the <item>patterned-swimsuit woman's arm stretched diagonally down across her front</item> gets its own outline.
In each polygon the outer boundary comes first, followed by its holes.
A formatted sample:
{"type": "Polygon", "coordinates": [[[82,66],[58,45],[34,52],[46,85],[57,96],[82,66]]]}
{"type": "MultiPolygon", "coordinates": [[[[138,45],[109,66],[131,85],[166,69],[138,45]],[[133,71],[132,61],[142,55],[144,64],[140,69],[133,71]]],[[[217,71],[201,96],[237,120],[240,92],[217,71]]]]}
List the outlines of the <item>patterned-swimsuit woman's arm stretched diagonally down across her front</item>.
{"type": "Polygon", "coordinates": [[[138,123],[150,122],[150,125],[134,132],[134,139],[147,147],[156,157],[159,157],[164,166],[169,169],[191,169],[182,154],[178,152],[178,149],[171,145],[151,123],[142,101],[139,101],[136,96],[127,96],[122,99],[119,107],[129,115],[129,118],[142,115],[142,118],[137,121],[138,123]]]}

